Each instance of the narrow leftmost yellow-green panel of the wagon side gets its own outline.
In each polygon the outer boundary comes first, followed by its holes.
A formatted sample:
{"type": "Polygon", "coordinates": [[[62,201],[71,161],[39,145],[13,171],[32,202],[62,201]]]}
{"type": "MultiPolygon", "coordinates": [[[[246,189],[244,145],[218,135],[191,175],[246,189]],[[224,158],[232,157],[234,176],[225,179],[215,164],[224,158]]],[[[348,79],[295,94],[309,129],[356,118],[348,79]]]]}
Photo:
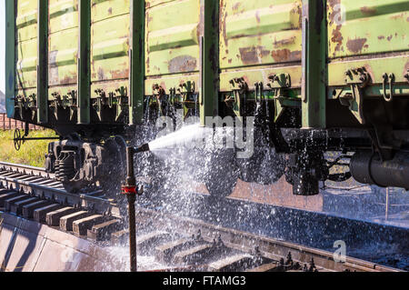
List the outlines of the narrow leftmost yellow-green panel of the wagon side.
{"type": "MultiPolygon", "coordinates": [[[[16,88],[36,87],[37,1],[18,0],[16,10],[16,88]]],[[[17,92],[16,95],[21,94],[17,92]]]]}

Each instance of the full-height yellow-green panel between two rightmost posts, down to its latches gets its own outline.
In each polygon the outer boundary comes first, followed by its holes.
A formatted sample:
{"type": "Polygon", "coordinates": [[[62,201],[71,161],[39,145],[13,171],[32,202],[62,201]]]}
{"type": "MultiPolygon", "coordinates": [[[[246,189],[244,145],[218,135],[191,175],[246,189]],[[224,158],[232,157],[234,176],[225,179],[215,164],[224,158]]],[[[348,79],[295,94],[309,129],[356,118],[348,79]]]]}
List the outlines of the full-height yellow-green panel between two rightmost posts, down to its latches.
{"type": "MultiPolygon", "coordinates": [[[[243,78],[248,87],[247,102],[254,101],[254,84],[259,83],[264,85],[264,97],[274,101],[274,91],[268,86],[270,77],[290,75],[291,88],[286,90],[290,103],[275,100],[272,121],[285,106],[300,105],[301,7],[301,1],[294,0],[220,1],[220,90],[231,91],[231,81],[243,78]]],[[[234,109],[237,115],[240,111],[234,109]]]]}

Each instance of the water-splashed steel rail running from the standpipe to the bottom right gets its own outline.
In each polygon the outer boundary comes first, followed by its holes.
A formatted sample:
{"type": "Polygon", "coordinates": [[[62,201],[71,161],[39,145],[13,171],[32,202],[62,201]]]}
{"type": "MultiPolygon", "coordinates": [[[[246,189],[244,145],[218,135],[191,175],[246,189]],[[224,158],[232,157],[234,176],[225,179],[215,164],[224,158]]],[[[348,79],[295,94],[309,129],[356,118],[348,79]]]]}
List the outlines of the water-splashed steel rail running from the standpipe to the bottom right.
{"type": "Polygon", "coordinates": [[[334,260],[334,253],[324,250],[297,245],[294,243],[277,240],[270,237],[253,235],[250,233],[225,228],[218,225],[207,224],[203,221],[181,217],[172,214],[158,213],[154,210],[138,208],[137,222],[145,223],[149,220],[156,228],[165,228],[166,225],[177,228],[186,236],[195,235],[199,230],[206,242],[212,243],[214,239],[221,238],[228,248],[244,253],[254,253],[256,251],[265,258],[274,261],[285,259],[291,253],[294,262],[301,265],[309,264],[314,259],[317,268],[330,272],[403,272],[384,265],[375,264],[354,257],[346,256],[344,262],[334,260]]]}

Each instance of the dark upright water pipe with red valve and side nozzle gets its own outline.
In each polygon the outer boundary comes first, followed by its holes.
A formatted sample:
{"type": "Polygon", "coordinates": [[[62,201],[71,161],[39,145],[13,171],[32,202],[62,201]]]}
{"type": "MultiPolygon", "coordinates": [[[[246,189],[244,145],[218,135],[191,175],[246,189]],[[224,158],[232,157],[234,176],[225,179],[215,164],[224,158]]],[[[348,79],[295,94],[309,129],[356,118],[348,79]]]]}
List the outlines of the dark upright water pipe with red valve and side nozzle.
{"type": "Polygon", "coordinates": [[[122,194],[126,195],[126,199],[128,200],[129,255],[131,272],[137,271],[135,218],[136,195],[143,195],[144,193],[144,188],[136,185],[134,155],[147,151],[150,151],[148,144],[139,147],[126,147],[126,184],[122,186],[122,194]]]}

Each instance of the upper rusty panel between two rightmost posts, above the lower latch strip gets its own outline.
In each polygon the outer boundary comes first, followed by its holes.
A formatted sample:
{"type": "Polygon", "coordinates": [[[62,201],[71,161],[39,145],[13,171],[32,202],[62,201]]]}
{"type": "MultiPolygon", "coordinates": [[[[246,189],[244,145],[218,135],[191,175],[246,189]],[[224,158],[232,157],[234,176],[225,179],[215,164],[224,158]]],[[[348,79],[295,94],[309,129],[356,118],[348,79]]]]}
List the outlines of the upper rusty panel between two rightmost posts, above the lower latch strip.
{"type": "Polygon", "coordinates": [[[301,1],[221,0],[220,67],[301,61],[301,1]]]}

